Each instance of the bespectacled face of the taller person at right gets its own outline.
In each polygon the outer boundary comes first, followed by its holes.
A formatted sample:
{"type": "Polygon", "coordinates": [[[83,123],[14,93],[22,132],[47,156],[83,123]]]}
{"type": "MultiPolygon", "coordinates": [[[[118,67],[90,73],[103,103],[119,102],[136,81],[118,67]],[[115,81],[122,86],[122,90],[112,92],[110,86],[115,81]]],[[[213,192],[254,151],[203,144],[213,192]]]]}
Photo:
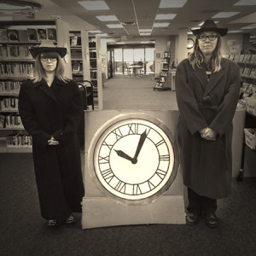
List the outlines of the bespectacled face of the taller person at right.
{"type": "Polygon", "coordinates": [[[216,32],[202,32],[199,35],[198,44],[203,55],[212,55],[217,43],[218,33],[216,32]]]}

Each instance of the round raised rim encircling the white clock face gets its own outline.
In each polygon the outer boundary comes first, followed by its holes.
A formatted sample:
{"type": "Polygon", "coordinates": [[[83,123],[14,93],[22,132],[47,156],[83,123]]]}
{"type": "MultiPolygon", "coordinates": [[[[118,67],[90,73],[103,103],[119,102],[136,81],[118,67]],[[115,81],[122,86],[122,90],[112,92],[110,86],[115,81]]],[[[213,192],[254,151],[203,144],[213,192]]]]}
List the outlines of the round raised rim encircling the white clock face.
{"type": "Polygon", "coordinates": [[[90,147],[88,150],[88,165],[90,170],[90,177],[93,178],[94,182],[96,183],[97,188],[102,192],[103,195],[107,195],[108,198],[113,199],[114,201],[119,201],[120,203],[123,203],[125,205],[137,205],[137,204],[148,204],[151,203],[158,198],[160,198],[162,195],[166,193],[168,189],[170,189],[173,181],[175,180],[175,177],[177,176],[177,170],[178,170],[178,150],[177,150],[177,143],[175,138],[172,136],[172,131],[170,131],[166,125],[163,124],[163,122],[160,119],[157,119],[151,115],[145,114],[145,113],[121,113],[118,116],[113,117],[113,119],[109,119],[108,122],[106,122],[101,128],[99,128],[94,137],[91,140],[90,147]],[[160,188],[154,195],[150,195],[146,198],[139,199],[139,200],[129,200],[125,198],[121,198],[117,195],[113,195],[108,189],[106,189],[102,183],[99,181],[96,172],[95,172],[95,166],[94,166],[94,155],[95,155],[95,148],[96,145],[102,136],[102,134],[108,130],[109,126],[112,126],[116,123],[119,123],[122,120],[125,119],[143,119],[145,121],[151,122],[154,125],[157,125],[160,127],[162,131],[166,133],[166,137],[168,137],[169,141],[172,144],[172,151],[173,151],[173,166],[172,166],[172,173],[169,177],[169,180],[164,184],[162,188],[160,188]]]}

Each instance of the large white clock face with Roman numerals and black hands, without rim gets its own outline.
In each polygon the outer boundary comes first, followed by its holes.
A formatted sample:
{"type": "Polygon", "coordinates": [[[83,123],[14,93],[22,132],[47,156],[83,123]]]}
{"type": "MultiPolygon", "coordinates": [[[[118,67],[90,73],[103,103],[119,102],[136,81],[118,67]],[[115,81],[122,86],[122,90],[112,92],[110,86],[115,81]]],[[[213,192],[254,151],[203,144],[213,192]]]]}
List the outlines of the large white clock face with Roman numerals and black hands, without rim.
{"type": "Polygon", "coordinates": [[[94,155],[96,177],[112,195],[143,200],[164,188],[174,167],[170,136],[145,119],[123,119],[99,137],[94,155]]]}

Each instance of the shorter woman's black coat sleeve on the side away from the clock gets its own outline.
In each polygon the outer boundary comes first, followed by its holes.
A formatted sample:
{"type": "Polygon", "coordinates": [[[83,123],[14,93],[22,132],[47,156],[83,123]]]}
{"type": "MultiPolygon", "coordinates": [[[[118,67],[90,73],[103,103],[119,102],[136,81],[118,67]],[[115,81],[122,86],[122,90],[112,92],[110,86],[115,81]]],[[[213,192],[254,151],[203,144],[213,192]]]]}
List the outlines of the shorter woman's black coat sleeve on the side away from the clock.
{"type": "Polygon", "coordinates": [[[22,125],[32,136],[33,140],[41,146],[47,146],[50,135],[38,125],[36,113],[29,98],[28,84],[21,84],[19,93],[19,113],[22,125]]]}

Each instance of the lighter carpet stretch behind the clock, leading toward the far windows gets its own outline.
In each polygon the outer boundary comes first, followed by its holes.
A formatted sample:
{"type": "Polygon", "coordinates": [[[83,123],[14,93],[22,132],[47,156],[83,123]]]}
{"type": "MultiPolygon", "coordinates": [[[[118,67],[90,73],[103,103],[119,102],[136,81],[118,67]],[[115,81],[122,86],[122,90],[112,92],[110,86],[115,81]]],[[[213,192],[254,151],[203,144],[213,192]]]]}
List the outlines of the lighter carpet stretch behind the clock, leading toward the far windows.
{"type": "Polygon", "coordinates": [[[103,88],[103,109],[177,110],[175,91],[154,90],[152,76],[129,78],[117,75],[103,88]]]}

